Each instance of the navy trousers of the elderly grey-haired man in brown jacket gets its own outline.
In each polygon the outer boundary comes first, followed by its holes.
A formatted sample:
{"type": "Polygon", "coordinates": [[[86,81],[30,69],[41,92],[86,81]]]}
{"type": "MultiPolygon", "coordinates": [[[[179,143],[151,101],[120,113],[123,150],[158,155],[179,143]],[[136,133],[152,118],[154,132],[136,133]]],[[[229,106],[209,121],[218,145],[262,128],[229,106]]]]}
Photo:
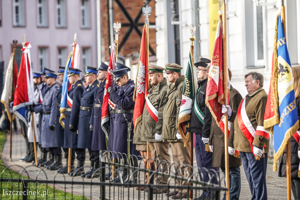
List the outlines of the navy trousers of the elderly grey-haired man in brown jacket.
{"type": "Polygon", "coordinates": [[[267,200],[266,172],[268,153],[255,160],[253,153],[240,152],[244,171],[252,194],[251,200],[267,200]]]}

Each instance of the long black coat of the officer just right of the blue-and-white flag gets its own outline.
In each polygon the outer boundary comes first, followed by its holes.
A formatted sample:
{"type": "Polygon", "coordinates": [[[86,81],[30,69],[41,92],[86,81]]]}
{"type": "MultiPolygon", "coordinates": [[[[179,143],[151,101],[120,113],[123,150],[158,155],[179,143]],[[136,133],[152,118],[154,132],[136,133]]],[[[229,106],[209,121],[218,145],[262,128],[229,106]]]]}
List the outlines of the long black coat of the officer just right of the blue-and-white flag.
{"type": "MultiPolygon", "coordinates": [[[[79,120],[80,97],[84,87],[82,80],[78,80],[68,91],[69,97],[73,100],[72,111],[65,112],[64,118],[64,148],[77,148],[77,131],[72,132],[69,129],[69,124],[72,124],[77,129],[79,120]]],[[[70,108],[67,104],[66,108],[70,108]]]]}

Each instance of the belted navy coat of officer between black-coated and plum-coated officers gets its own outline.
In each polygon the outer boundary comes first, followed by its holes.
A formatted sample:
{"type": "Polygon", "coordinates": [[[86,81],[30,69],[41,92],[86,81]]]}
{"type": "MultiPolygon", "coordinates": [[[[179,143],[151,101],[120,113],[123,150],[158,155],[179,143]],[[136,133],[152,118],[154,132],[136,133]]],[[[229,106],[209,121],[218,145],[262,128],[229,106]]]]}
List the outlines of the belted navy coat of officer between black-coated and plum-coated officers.
{"type": "MultiPolygon", "coordinates": [[[[98,80],[96,80],[91,86],[88,86],[81,95],[80,106],[82,107],[93,107],[94,96],[98,91],[98,80]]],[[[76,94],[77,95],[77,94],[76,94]]],[[[78,120],[78,139],[77,147],[82,149],[91,149],[92,144],[92,133],[90,132],[90,118],[91,110],[80,110],[78,120]]],[[[78,114],[78,113],[77,113],[78,114]]]]}

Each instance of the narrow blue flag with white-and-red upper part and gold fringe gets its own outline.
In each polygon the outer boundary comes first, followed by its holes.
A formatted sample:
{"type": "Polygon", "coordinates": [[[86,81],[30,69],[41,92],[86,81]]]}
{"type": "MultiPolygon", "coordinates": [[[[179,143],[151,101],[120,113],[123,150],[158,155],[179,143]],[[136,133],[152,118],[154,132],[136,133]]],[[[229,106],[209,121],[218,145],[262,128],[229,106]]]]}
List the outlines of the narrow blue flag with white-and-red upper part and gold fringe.
{"type": "MultiPolygon", "coordinates": [[[[76,43],[73,43],[73,51],[69,54],[67,58],[66,67],[64,70],[64,79],[62,81],[61,85],[61,102],[60,102],[60,117],[59,117],[59,123],[62,127],[64,127],[64,117],[65,117],[65,110],[66,105],[68,102],[68,91],[71,89],[71,83],[69,83],[67,74],[68,74],[68,68],[79,68],[80,63],[80,53],[79,53],[79,45],[76,43]]],[[[71,106],[70,106],[71,107],[71,106]]]]}

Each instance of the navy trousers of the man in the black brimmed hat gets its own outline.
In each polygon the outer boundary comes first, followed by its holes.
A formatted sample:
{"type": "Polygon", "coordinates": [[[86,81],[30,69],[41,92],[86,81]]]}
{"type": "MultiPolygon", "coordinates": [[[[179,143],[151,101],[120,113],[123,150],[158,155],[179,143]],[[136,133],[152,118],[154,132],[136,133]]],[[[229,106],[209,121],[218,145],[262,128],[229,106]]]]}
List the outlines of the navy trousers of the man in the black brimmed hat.
{"type": "MultiPolygon", "coordinates": [[[[211,169],[212,164],[212,152],[205,151],[205,144],[202,141],[202,134],[195,134],[196,135],[196,145],[195,145],[195,153],[196,153],[196,161],[197,161],[197,167],[205,167],[207,169],[211,169]]],[[[219,168],[213,168],[216,171],[219,171],[219,168]]],[[[201,174],[199,173],[200,179],[201,174]]],[[[202,180],[205,182],[208,182],[208,175],[206,175],[205,180],[202,180]]],[[[213,183],[217,184],[217,180],[215,179],[213,183]]],[[[204,191],[201,196],[208,196],[211,197],[211,191],[204,191]]]]}

